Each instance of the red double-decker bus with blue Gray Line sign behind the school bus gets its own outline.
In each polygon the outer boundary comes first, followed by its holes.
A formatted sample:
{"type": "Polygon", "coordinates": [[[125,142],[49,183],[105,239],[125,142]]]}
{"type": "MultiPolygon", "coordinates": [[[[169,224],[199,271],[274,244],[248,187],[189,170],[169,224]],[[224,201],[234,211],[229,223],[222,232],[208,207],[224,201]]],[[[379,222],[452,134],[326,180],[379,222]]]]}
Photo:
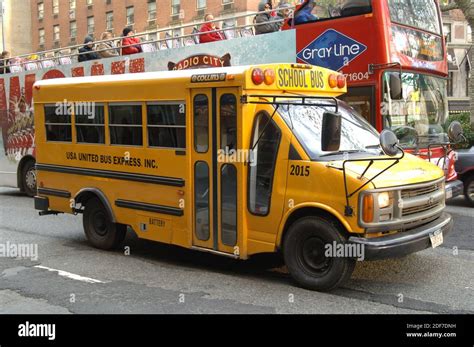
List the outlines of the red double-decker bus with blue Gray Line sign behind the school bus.
{"type": "Polygon", "coordinates": [[[179,27],[182,36],[169,38],[169,28],[157,29],[154,39],[141,34],[143,53],[133,56],[81,63],[78,53],[63,56],[63,49],[53,49],[39,52],[39,61],[10,62],[11,73],[0,75],[0,186],[35,194],[35,81],[213,65],[209,62],[301,62],[344,73],[349,93],[343,99],[378,130],[393,130],[408,152],[443,167],[448,199],[462,193],[445,128],[448,69],[437,0],[305,0],[281,31],[266,35],[254,35],[255,15],[233,18],[242,23],[223,30],[226,40],[208,44],[199,44],[194,27],[199,23],[193,23],[179,27]]]}

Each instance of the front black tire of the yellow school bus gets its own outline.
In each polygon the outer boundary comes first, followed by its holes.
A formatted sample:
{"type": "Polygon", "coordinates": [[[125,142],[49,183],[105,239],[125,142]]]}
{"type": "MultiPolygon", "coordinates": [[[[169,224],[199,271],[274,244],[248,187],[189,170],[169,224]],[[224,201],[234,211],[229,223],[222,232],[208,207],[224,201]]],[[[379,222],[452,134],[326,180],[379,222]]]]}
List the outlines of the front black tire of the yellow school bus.
{"type": "Polygon", "coordinates": [[[342,244],[346,238],[331,222],[319,217],[304,217],[288,229],[283,256],[288,271],[303,288],[330,291],[348,281],[356,260],[326,257],[325,245],[342,244]]]}

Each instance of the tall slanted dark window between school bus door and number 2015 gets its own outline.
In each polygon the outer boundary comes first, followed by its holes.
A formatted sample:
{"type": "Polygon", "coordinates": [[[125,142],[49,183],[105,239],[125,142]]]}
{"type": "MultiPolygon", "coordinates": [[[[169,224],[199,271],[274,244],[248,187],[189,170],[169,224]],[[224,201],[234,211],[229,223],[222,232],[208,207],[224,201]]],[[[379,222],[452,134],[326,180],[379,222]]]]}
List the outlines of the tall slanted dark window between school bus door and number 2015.
{"type": "Polygon", "coordinates": [[[273,120],[270,120],[268,114],[266,112],[258,113],[255,117],[250,143],[253,147],[257,140],[259,141],[252,153],[253,162],[250,165],[248,177],[248,208],[253,214],[266,216],[270,212],[273,177],[280,139],[281,131],[273,120]],[[265,131],[263,131],[264,129],[265,131]]]}

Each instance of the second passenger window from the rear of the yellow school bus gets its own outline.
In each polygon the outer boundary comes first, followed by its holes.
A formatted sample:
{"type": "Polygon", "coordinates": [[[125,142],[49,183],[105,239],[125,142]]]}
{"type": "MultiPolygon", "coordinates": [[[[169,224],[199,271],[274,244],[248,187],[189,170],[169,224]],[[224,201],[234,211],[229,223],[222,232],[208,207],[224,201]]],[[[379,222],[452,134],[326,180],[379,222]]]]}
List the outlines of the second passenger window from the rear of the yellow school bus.
{"type": "Polygon", "coordinates": [[[95,105],[90,109],[87,104],[76,104],[75,119],[78,143],[105,144],[105,108],[103,105],[95,105]]]}

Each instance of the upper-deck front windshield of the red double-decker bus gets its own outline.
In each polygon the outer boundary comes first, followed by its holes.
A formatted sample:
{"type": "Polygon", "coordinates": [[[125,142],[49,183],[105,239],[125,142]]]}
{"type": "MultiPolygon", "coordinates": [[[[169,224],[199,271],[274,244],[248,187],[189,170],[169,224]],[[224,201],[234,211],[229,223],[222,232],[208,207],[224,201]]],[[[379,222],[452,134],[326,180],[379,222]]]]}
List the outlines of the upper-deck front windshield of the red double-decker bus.
{"type": "Polygon", "coordinates": [[[392,22],[441,35],[438,7],[434,0],[389,0],[388,5],[392,22]]]}

